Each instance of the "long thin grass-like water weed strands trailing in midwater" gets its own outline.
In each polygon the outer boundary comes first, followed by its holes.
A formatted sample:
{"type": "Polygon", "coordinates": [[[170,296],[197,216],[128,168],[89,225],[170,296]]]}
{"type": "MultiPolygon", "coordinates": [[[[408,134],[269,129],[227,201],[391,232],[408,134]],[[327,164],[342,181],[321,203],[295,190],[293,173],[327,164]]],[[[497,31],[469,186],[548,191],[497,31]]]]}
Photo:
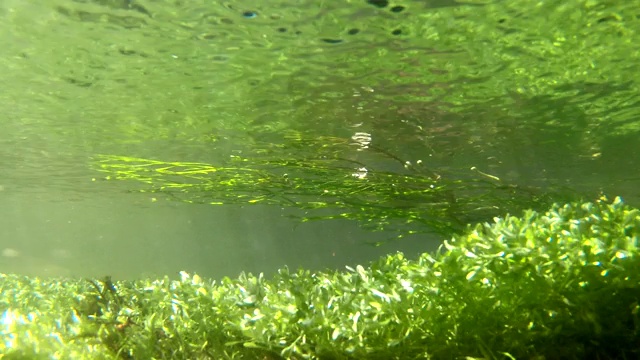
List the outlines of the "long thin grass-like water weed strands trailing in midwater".
{"type": "MultiPolygon", "coordinates": [[[[410,164],[383,149],[369,150],[403,165],[401,172],[377,171],[350,159],[347,139],[289,136],[255,155],[232,155],[221,165],[167,162],[99,155],[95,167],[107,179],[136,180],[140,191],[204,204],[266,204],[304,210],[302,221],[357,220],[373,230],[451,234],[467,223],[525,208],[547,206],[562,197],[537,188],[505,184],[473,169],[440,174],[410,164]],[[305,156],[304,154],[311,155],[305,156]],[[282,154],[285,154],[284,156],[282,154]],[[406,226],[410,225],[410,226],[406,226]]],[[[566,197],[565,197],[566,198],[566,197]]]]}

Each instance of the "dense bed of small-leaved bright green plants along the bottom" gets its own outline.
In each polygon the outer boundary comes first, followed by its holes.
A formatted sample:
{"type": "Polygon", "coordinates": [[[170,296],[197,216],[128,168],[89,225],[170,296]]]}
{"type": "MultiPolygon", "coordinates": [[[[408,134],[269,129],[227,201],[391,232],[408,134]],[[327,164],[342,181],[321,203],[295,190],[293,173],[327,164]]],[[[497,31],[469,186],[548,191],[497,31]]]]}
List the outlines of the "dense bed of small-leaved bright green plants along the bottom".
{"type": "Polygon", "coordinates": [[[0,275],[2,359],[633,359],[640,211],[469,227],[435,254],[208,281],[0,275]]]}

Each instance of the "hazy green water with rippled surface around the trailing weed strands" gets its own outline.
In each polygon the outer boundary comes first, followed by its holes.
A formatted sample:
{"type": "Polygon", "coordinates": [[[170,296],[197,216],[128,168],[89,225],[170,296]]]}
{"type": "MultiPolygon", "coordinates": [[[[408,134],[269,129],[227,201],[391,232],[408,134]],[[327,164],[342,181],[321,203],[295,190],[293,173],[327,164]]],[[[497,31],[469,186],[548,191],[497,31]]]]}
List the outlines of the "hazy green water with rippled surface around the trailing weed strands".
{"type": "Polygon", "coordinates": [[[341,143],[332,154],[369,174],[421,161],[473,179],[475,167],[510,186],[640,205],[633,2],[296,4],[3,1],[0,271],[218,277],[353,265],[442,238],[372,247],[393,231],[300,224],[284,203],[132,192],[139,184],[95,171],[103,154],[221,166],[304,162],[341,143]],[[288,146],[295,137],[315,140],[288,146]]]}

